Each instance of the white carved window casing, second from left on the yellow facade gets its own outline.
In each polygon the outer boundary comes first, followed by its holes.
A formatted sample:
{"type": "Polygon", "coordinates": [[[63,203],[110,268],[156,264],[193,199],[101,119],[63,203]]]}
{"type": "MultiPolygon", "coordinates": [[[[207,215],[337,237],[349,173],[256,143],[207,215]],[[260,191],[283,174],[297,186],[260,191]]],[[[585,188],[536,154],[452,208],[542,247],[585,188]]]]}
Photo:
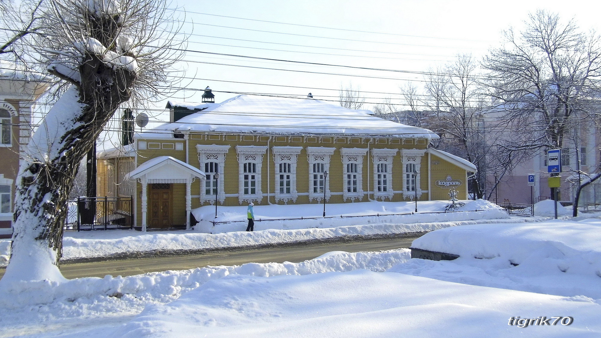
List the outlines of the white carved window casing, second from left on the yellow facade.
{"type": "MultiPolygon", "coordinates": [[[[236,146],[238,156],[238,202],[260,202],[263,199],[261,191],[261,167],[263,154],[267,147],[236,146]]],[[[221,177],[221,176],[219,176],[221,177]]]]}

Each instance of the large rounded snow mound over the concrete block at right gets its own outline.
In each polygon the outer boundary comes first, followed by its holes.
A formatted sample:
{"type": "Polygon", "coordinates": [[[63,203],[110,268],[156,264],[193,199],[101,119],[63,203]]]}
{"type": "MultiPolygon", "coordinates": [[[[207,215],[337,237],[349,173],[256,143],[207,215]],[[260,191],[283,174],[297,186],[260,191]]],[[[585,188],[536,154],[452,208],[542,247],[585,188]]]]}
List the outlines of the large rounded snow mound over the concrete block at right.
{"type": "Polygon", "coordinates": [[[391,271],[601,302],[601,220],[453,227],[427,233],[412,247],[460,257],[412,259],[391,271]]]}

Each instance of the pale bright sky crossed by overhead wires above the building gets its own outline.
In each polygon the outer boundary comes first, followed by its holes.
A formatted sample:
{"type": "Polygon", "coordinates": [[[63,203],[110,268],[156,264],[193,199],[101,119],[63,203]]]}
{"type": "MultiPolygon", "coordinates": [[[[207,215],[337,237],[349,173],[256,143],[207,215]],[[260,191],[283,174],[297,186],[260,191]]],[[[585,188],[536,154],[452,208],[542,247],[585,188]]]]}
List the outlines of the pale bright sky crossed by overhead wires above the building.
{"type": "MultiPolygon", "coordinates": [[[[178,87],[186,89],[169,99],[200,102],[209,86],[215,102],[238,93],[338,100],[340,88],[352,86],[363,92],[367,109],[388,97],[400,103],[404,84],[423,88],[422,75],[411,72],[442,67],[460,54],[481,60],[500,46],[504,29],[519,29],[532,11],[575,19],[588,31],[599,29],[601,10],[597,1],[515,0],[179,0],[171,7],[180,8],[179,37],[188,42],[178,64],[178,87]]],[[[168,120],[166,99],[147,111],[148,128],[168,120]]]]}

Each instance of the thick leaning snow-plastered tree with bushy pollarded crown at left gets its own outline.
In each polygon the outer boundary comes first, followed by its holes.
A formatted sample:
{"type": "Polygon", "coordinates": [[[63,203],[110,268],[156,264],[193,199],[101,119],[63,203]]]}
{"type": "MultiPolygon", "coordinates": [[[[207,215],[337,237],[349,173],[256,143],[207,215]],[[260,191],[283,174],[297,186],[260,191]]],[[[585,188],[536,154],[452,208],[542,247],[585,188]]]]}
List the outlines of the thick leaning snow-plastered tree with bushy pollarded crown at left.
{"type": "Polygon", "coordinates": [[[44,2],[31,49],[69,88],[20,165],[12,256],[2,282],[64,280],[58,261],[79,164],[120,105],[159,94],[168,81],[178,59],[169,14],[162,0],[44,2]]]}

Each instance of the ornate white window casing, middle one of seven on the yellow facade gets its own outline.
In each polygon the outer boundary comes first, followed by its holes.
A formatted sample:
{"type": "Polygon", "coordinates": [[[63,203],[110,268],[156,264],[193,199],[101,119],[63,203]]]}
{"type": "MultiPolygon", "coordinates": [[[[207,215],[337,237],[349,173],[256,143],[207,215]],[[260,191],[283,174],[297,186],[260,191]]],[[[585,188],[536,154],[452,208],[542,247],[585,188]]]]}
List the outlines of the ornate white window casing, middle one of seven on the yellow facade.
{"type": "Polygon", "coordinates": [[[330,199],[330,177],[324,179],[323,172],[330,171],[330,158],[336,148],[307,147],[307,159],[309,161],[309,201],[323,200],[324,190],[326,200],[330,199]]]}

